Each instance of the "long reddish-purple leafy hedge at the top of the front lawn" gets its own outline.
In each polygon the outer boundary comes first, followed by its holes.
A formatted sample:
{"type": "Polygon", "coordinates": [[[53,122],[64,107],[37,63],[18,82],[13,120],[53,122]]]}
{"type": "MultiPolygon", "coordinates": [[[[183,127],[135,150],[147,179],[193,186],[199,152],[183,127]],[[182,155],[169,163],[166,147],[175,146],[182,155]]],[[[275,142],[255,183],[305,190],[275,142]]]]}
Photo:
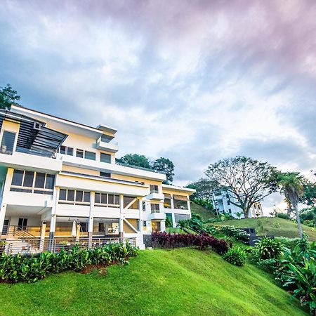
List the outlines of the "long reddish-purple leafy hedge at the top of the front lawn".
{"type": "Polygon", "coordinates": [[[218,254],[225,254],[228,251],[228,244],[224,239],[218,239],[204,233],[201,235],[193,235],[152,232],[152,242],[155,246],[162,248],[198,246],[201,250],[211,248],[218,254]]]}

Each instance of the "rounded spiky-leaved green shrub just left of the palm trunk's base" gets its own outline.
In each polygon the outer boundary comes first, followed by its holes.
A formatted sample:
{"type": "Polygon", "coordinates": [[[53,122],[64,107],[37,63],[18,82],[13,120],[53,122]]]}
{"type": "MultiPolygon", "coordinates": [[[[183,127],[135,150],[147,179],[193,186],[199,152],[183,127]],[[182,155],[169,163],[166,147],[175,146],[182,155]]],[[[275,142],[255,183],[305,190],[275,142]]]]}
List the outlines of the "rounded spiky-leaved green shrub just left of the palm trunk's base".
{"type": "Polygon", "coordinates": [[[263,237],[256,246],[254,246],[253,254],[258,260],[277,259],[283,251],[284,246],[281,242],[272,238],[263,237]]]}

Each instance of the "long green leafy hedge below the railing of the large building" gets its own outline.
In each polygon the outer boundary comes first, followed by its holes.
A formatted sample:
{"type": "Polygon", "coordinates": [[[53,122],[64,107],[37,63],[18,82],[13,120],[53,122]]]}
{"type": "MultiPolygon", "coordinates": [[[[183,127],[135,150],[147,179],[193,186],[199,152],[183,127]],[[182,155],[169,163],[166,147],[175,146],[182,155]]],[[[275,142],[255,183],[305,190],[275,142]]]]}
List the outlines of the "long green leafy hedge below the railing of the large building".
{"type": "Polygon", "coordinates": [[[36,282],[49,273],[66,270],[81,271],[88,265],[109,265],[127,262],[136,256],[138,248],[126,243],[107,244],[95,249],[80,249],[78,245],[69,251],[62,249],[59,253],[42,252],[38,256],[21,256],[20,254],[2,254],[0,258],[0,280],[2,282],[36,282]]]}

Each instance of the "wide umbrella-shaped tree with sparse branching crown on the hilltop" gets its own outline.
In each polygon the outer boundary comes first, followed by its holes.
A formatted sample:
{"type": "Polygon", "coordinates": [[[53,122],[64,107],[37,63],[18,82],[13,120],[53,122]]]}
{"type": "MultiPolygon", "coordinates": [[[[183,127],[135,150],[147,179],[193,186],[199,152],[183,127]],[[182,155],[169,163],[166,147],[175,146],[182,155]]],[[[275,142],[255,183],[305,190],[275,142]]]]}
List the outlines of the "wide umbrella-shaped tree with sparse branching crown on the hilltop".
{"type": "Polygon", "coordinates": [[[274,167],[249,157],[221,159],[206,170],[209,180],[225,190],[248,218],[251,206],[272,192],[269,180],[274,167]]]}

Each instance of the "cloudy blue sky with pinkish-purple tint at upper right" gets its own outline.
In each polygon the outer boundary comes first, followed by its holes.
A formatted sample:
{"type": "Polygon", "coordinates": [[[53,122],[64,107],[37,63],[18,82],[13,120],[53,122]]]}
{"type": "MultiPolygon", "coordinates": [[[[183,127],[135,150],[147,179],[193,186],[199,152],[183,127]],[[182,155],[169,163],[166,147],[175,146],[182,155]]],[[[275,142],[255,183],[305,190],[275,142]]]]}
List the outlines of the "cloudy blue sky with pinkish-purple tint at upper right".
{"type": "Polygon", "coordinates": [[[114,127],[118,157],[168,157],[176,185],[236,155],[308,176],[315,17],[315,0],[1,0],[0,86],[114,127]]]}

